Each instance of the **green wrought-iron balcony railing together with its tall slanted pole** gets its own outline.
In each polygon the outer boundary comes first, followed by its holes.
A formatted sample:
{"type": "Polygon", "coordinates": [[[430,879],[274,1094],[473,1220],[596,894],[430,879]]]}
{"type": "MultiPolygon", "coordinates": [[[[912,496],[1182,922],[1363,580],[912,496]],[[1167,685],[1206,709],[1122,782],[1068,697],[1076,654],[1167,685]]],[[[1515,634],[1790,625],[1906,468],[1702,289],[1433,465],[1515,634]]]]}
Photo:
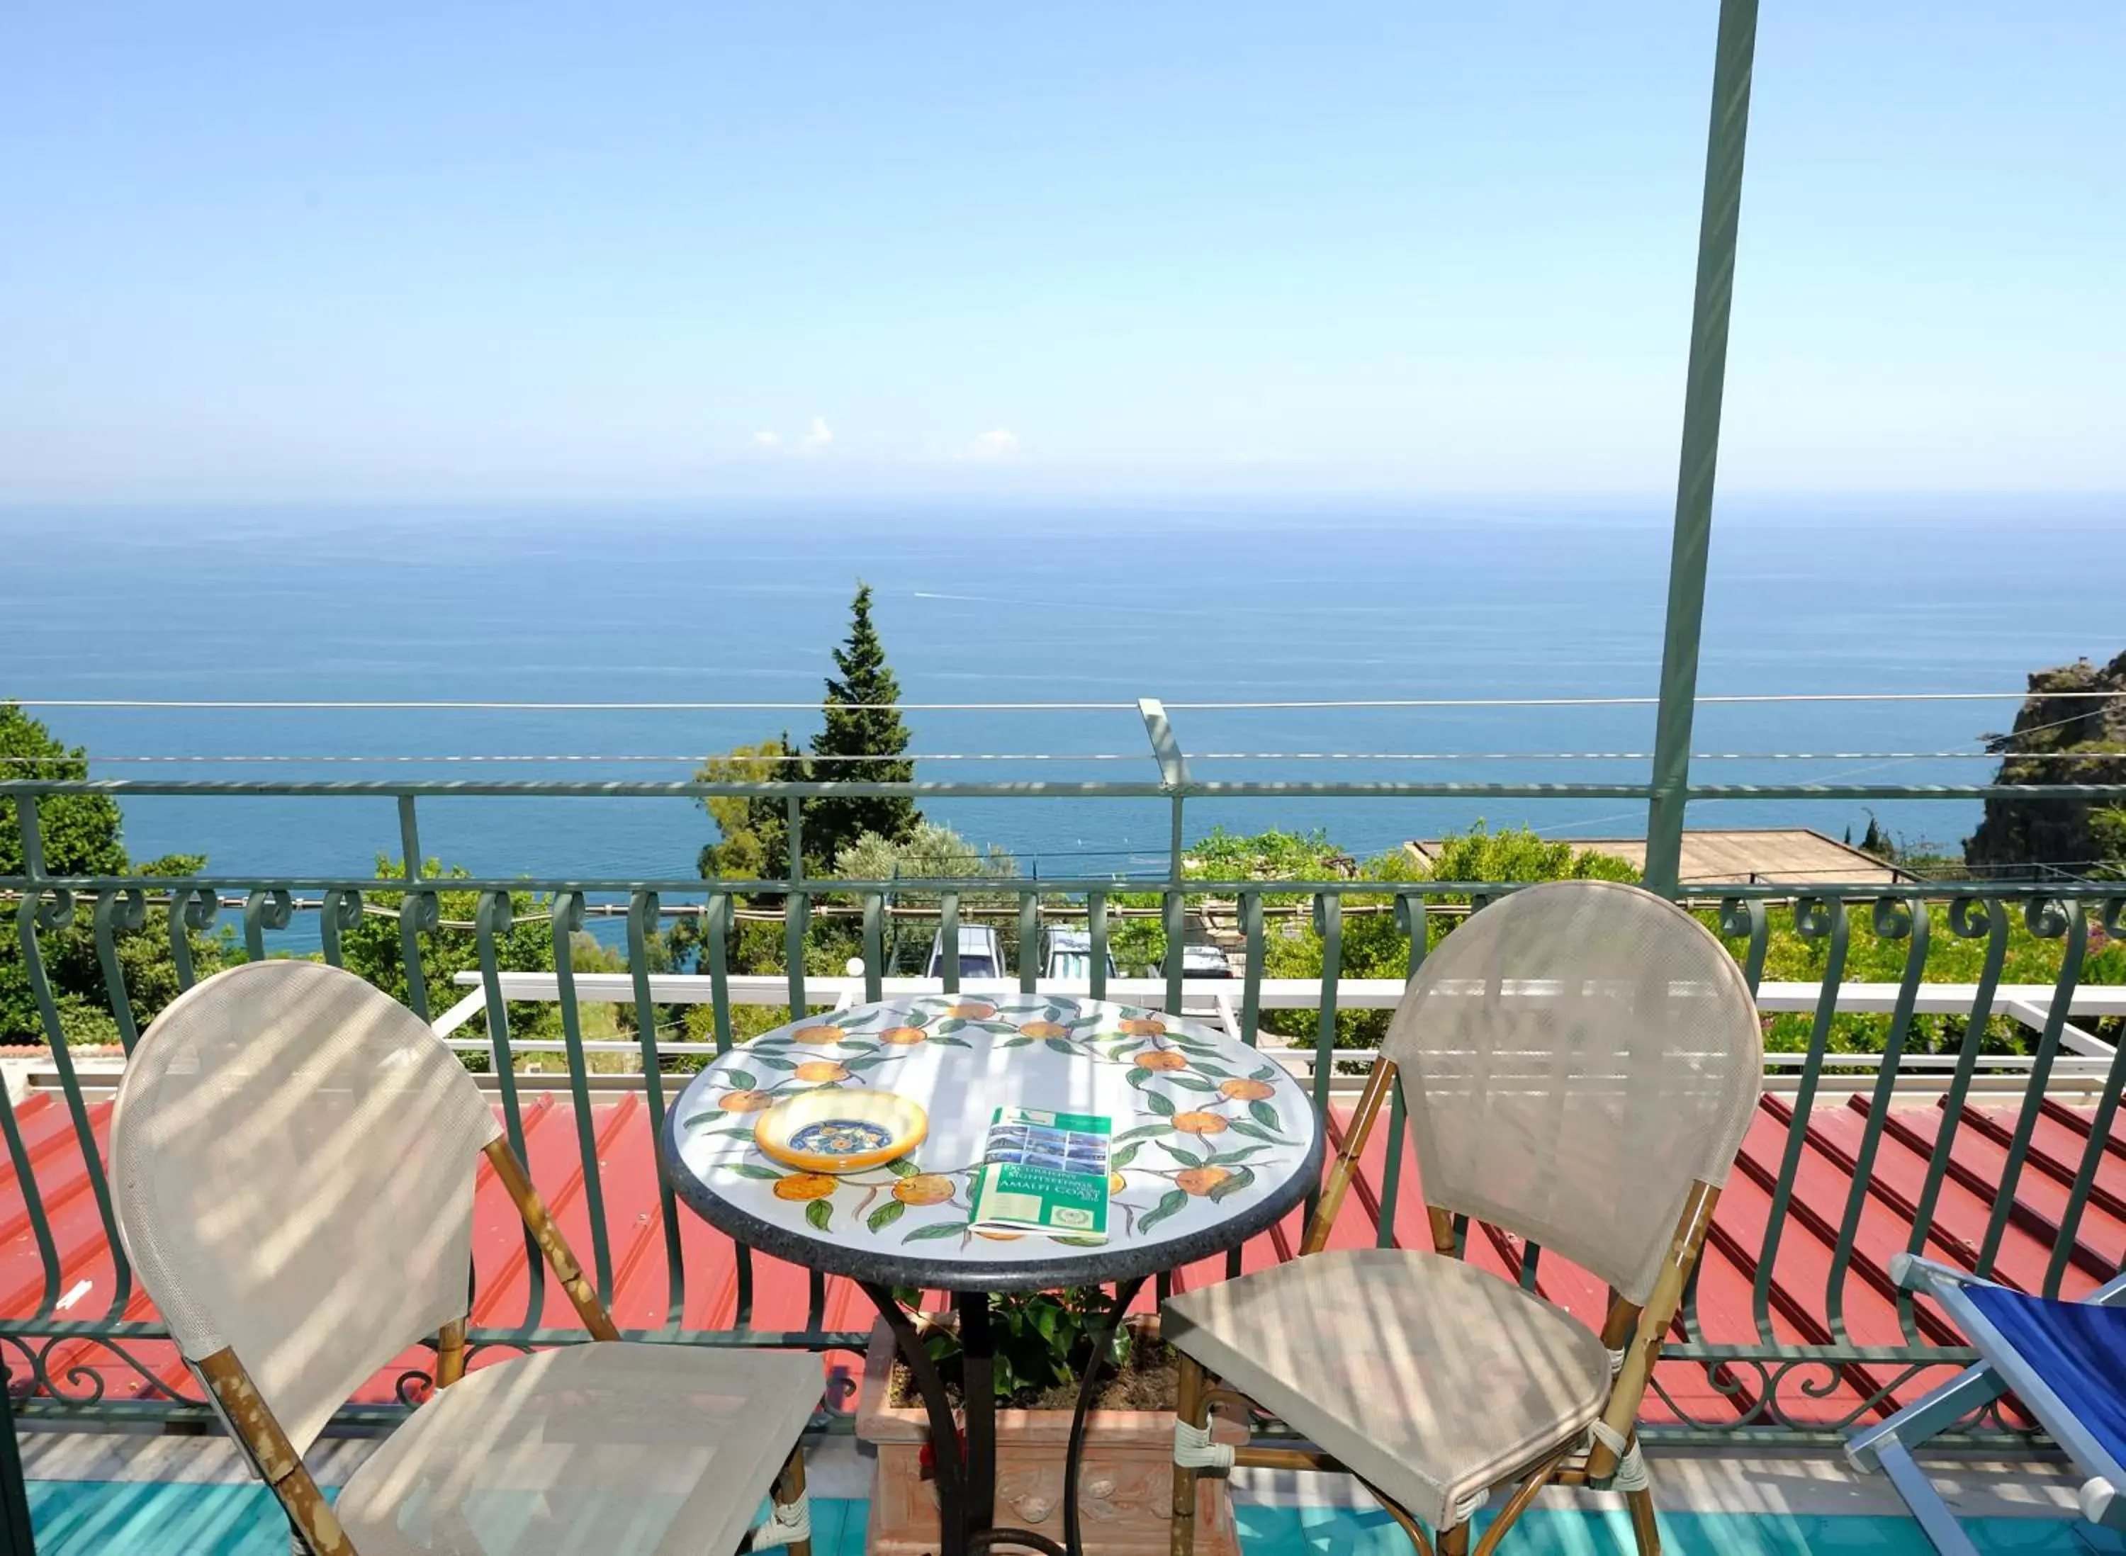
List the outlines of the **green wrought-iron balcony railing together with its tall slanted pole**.
{"type": "MultiPolygon", "coordinates": [[[[17,944],[28,969],[34,1003],[40,1012],[43,1037],[51,1048],[51,1063],[57,1071],[64,1095],[68,1133],[81,1161],[81,1182],[87,1205],[66,1207],[68,1235],[79,1237],[79,1229],[96,1222],[89,1233],[94,1248],[85,1252],[91,1261],[108,1261],[113,1271],[111,1295],[102,1299],[102,1312],[85,1318],[68,1316],[74,1292],[64,1290],[66,1258],[62,1252],[79,1254],[68,1246],[60,1248],[53,1227],[53,1207],[45,1203],[36,1163],[23,1144],[13,1103],[0,1099],[0,1131],[6,1135],[9,1161],[15,1184],[21,1193],[23,1212],[17,1235],[28,1235],[38,1252],[43,1280],[34,1301],[19,1303],[28,1312],[0,1314],[0,1350],[11,1358],[21,1358],[17,1375],[34,1384],[34,1394],[21,1401],[23,1418],[77,1416],[91,1420],[204,1420],[206,1409],[183,1384],[157,1380],[157,1369],[142,1348],[164,1346],[166,1331],[136,1314],[138,1292],[117,1246],[111,1216],[111,1195],[104,1182],[102,1158],[96,1144],[91,1107],[85,1095],[85,1078],[77,1073],[72,1054],[66,1048],[57,1001],[53,999],[43,959],[43,940],[87,912],[98,965],[104,974],[111,1016],[121,1044],[130,1050],[138,1039],[140,1020],[132,991],[125,986],[125,969],[119,957],[117,937],[140,933],[149,920],[151,906],[168,914],[170,954],[181,984],[191,984],[198,967],[191,957],[189,935],[206,931],[217,916],[232,910],[240,918],[240,944],[247,957],[259,959],[270,950],[270,935],[287,931],[296,914],[317,916],[317,944],[325,961],[344,961],[344,935],[353,931],[364,914],[385,897],[393,903],[398,935],[408,969],[421,965],[423,942],[444,929],[440,895],[474,893],[476,910],[472,933],[476,942],[476,974],[480,1005],[487,1022],[487,1037],[493,1054],[493,1084],[506,1118],[512,1146],[525,1144],[525,1099],[523,1078],[517,1071],[510,1048],[510,999],[504,995],[504,974],[497,965],[497,944],[514,920],[512,893],[540,893],[546,899],[542,912],[549,918],[555,999],[561,1020],[561,1048],[568,1059],[566,1088],[574,1101],[578,1171],[585,1203],[591,1216],[591,1263],[597,1286],[604,1295],[614,1288],[614,1250],[610,1227],[606,1224],[604,1186],[597,1161],[597,1141],[591,1122],[593,1086],[589,1050],[583,1029],[583,999],[578,976],[570,965],[570,937],[585,923],[593,908],[612,908],[625,914],[627,978],[629,997],[636,1010],[636,1033],[640,1042],[644,1103],[655,1120],[661,1118],[665,1097],[665,1054],[657,1044],[657,999],[648,969],[651,935],[659,925],[676,916],[699,920],[699,942],[704,946],[704,974],[710,982],[714,1050],[733,1044],[733,980],[727,965],[725,942],[746,897],[774,895],[782,910],[784,948],[784,991],[782,999],[791,1008],[804,1008],[816,984],[808,978],[804,948],[808,944],[808,920],[814,906],[855,903],[861,916],[863,944],[863,993],[878,995],[882,978],[882,935],[889,910],[910,893],[927,893],[938,901],[940,927],[944,931],[944,986],[959,984],[957,967],[957,925],[963,908],[972,912],[976,897],[1010,899],[1006,923],[1018,929],[1016,976],[1020,986],[1033,986],[1037,969],[1037,929],[1044,912],[1065,901],[1074,914],[1082,912],[1093,940],[1093,993],[1103,993],[1106,946],[1112,931],[1110,903],[1116,893],[1150,891],[1159,897],[1161,923],[1167,929],[1165,963],[1146,1003],[1180,1008],[1188,993],[1182,967],[1182,927],[1191,899],[1225,899],[1239,927],[1244,946],[1244,976],[1239,982],[1237,1025],[1248,1042],[1256,1042],[1265,1016],[1265,957],[1271,929],[1267,927],[1271,897],[1297,897],[1312,912],[1314,929],[1322,948],[1322,974],[1318,991],[1312,995],[1316,1010],[1312,1039],[1312,1076],[1316,1107],[1329,1118],[1329,1103],[1337,1084],[1337,1069],[1344,1063],[1363,1065],[1363,1056],[1352,1050],[1335,1050],[1339,1001],[1352,997],[1344,980],[1344,954],[1350,942],[1350,920],[1356,912],[1388,910],[1407,935],[1407,967],[1414,969],[1429,944],[1429,920],[1446,910],[1467,910],[1486,897],[1512,891],[1509,882],[1378,882],[1378,880],[1307,880],[1307,882],[1259,882],[1259,880],[1191,880],[1184,872],[1184,821],[1193,799],[1282,799],[1290,801],[1303,816],[1303,806],[1312,799],[1458,799],[1473,806],[1497,806],[1501,801],[1546,801],[1546,799],[1626,799],[1648,806],[1648,884],[1656,891],[1675,893],[1677,859],[1684,829],[1684,814],[1690,804],[1718,804],[1724,799],[1788,799],[1788,801],[1907,801],[1947,799],[1971,801],[1988,797],[2015,799],[2126,799],[2126,787],[2105,784],[2043,784],[2043,787],[1905,787],[1905,784],[1694,784],[1690,782],[1690,729],[1694,710],[1699,636],[1705,602],[1705,565],[1711,538],[1714,476],[1718,463],[1720,404],[1726,366],[1728,308],[1735,278],[1735,240],[1741,204],[1741,172],[1748,132],[1750,77],[1756,34],[1754,0],[1722,0],[1716,45],[1711,121],[1707,134],[1705,189],[1699,227],[1697,291],[1692,308],[1690,363],[1686,383],[1684,429],[1680,478],[1675,500],[1675,536],[1669,574],[1667,633],[1660,672],[1660,708],[1656,718],[1654,759],[1646,782],[1618,784],[1454,784],[1454,782],[1203,782],[1188,772],[1188,763],[1174,731],[1167,727],[1159,704],[1144,704],[1144,723],[1159,763],[1154,782],[1027,782],[1027,784],[699,784],[699,782],[574,782],[574,784],[527,784],[527,782],[474,782],[474,784],[393,784],[393,782],[36,782],[0,780],[0,799],[13,804],[21,825],[23,874],[0,880],[0,897],[15,903],[17,944]],[[38,804],[51,795],[66,793],[111,793],[111,795],[191,795],[191,797],[240,797],[281,795],[315,797],[321,804],[385,804],[395,806],[406,876],[393,880],[374,878],[325,878],[325,876],[183,876],[183,878],[64,878],[45,869],[38,804]],[[421,876],[421,833],[419,801],[427,797],[544,797],[544,799],[706,799],[716,795],[761,795],[780,797],[789,816],[789,852],[802,861],[804,801],[825,793],[899,793],[916,801],[931,799],[1042,799],[1042,801],[1086,801],[1101,799],[1159,799],[1169,806],[1169,852],[1165,874],[1150,882],[1120,882],[1112,878],[1078,880],[1014,880],[1014,878],[959,878],[959,880],[819,880],[804,878],[802,863],[793,863],[791,878],[780,882],[738,882],[738,880],[636,880],[636,878],[451,878],[429,880],[421,876]],[[608,899],[608,901],[602,901],[608,899]],[[1331,1061],[1331,1054],[1337,1054],[1331,1061]],[[115,1397],[104,1382],[102,1363],[115,1358],[119,1367],[138,1373],[138,1386],[128,1397],[115,1397]]],[[[1497,814],[1497,810],[1492,812],[1497,814]]],[[[1954,1367],[1969,1358],[1969,1352],[1945,1333],[1939,1318],[1916,1307],[1909,1295],[1894,1297],[1896,1331],[1894,1339],[1858,1339],[1854,1335],[1852,1307],[1847,1303],[1856,1282],[1869,1284],[1879,1297],[1890,1299],[1882,1288],[1884,1271],[1879,1248],[1871,1248],[1869,1227],[1873,1167],[1888,1131],[1888,1101],[1896,1088],[1913,1076],[1941,1078],[1945,1071],[1945,1122],[1926,1154],[1926,1173],[1918,1197],[1911,1203],[1909,1252],[1926,1252],[1935,1237],[1935,1212],[1950,1193],[1952,1182],[1958,1193],[1973,1193],[1956,1176],[1952,1146],[1964,1129],[1977,1129],[1967,1116],[1967,1101],[1977,1095],[1988,1069],[1998,1067],[1986,1052],[1986,1033],[1994,1018],[2003,1014],[2003,974],[2009,944],[2018,933],[2056,948],[2047,950],[2049,988],[2045,991],[2043,1016],[2037,1025],[2032,1050],[2022,1056],[2020,1101],[2015,1122],[2005,1129],[2001,1173],[1992,1186],[1986,1227],[1975,1248],[1941,1250],[1964,1258],[1979,1271],[1990,1271],[2003,1258],[2009,1235],[2032,1237],[2043,1231],[2049,1237],[2045,1267],[2039,1284],[2058,1290],[2069,1269],[2081,1275],[2107,1275],[2111,1269],[2090,1269],[2092,1263],[2115,1265],[2115,1256],[2105,1258],[2092,1252],[2077,1237],[2088,1207],[2103,1201],[2105,1214],[2126,1205],[2105,1182],[2105,1169],[2113,1163],[2111,1133],[2126,1088],[2126,1044],[2105,1052],[2079,1042],[2079,1052],[2069,1054],[2073,1035],[2071,1010],[2083,997],[2083,967],[2090,957],[2092,935],[2103,929],[2109,937],[2126,933],[2122,912],[2126,912],[2126,891],[2120,886],[2094,886],[2081,882],[2045,884],[1733,884],[1694,886],[1697,897],[1718,912],[1720,927],[1731,935],[1737,954],[1752,982],[1758,986],[1767,967],[1773,940],[1773,920],[1790,916],[1790,929],[1820,950],[1816,974],[1816,997],[1809,1020],[1807,1048],[1794,1071],[1788,1122],[1779,1144],[1775,1167],[1765,1167],[1762,1184],[1769,1214],[1762,1233],[1748,1246],[1722,1248],[1737,1267],[1752,1271],[1748,1318],[1741,1333],[1733,1333],[1726,1316],[1714,1322],[1711,1305],[1692,1290],[1682,1316],[1682,1333],[1671,1337],[1667,1360],[1656,1373],[1654,1390],[1660,1394],[1673,1424],[1658,1426],[1650,1435],[1677,1439],[1737,1439],[1775,1437],[1782,1441],[1820,1439],[1841,1431],[1841,1426],[1869,1411],[1892,1405],[1901,1392],[1911,1392],[1920,1380],[1933,1377],[1941,1367],[1954,1367]],[[1896,984],[1892,1008],[1882,1014],[1879,1052],[1867,1065],[1856,1065],[1847,1054],[1835,1052],[1833,1035],[1841,1020],[1841,971],[1847,963],[1854,918],[1865,912],[1869,929],[1877,937],[1901,940],[1907,946],[1903,971],[1896,984]],[[1926,1001],[1928,965],[1952,942],[1984,946],[1981,976],[1969,986],[1969,1008],[1962,1016],[1964,1029],[1952,1052],[1928,1054],[1933,1065],[1911,1052],[1918,1031],[1918,1008],[1926,1001]],[[2096,1063],[2100,1073],[2088,1076],[2096,1063]],[[2073,1169],[2064,1169],[2035,1148],[2041,1120],[2047,1116],[2047,1088],[2075,1069],[2081,1086],[2094,1099],[2086,1122],[2086,1148],[2081,1148],[2073,1169]],[[1856,1071],[1860,1082],[1854,1080],[1856,1071]],[[1837,1224],[1809,1224],[1807,1237],[1820,1248],[1828,1248],[1824,1269],[1818,1278],[1820,1307],[1794,1312],[1790,1288],[1782,1280],[1782,1256],[1794,1250],[1794,1227],[1807,1216],[1816,1216],[1796,1197],[1803,1178],[1805,1154],[1813,1148],[1809,1139],[1809,1112],[1820,1093],[1839,1084],[1865,1084],[1869,1090],[1869,1120],[1850,1163],[1850,1190],[1837,1224]],[[2020,1188],[2032,1173],[2058,1169],[2066,1182],[2064,1201],[2049,1218],[2032,1222],[2020,1188]],[[1799,1335],[1799,1337],[1796,1337],[1799,1335]],[[1690,1384],[1694,1382],[1694,1388],[1690,1384]]],[[[427,1008],[427,991],[419,976],[408,980],[408,1003],[421,1016],[434,1016],[427,1008]]],[[[1926,1020],[1933,1020],[1928,1016],[1926,1020]]],[[[1305,1052],[1310,1046],[1299,1044],[1305,1052]]],[[[1395,1099],[1388,1124],[1390,1161],[1405,1156],[1407,1120],[1401,1097],[1395,1099]]],[[[2113,1178],[2117,1167],[2111,1167],[2113,1178]]],[[[1395,1237],[1397,1201],[1403,1197],[1401,1173],[1390,1171],[1378,1188],[1376,1222],[1382,1241],[1395,1237]]],[[[861,1350],[865,1335],[831,1333],[821,1326],[825,1312],[825,1286],[814,1278],[806,1324],[797,1331],[755,1329],[755,1271],[753,1256],[744,1248],[733,1250],[736,1261],[736,1312],[729,1329],[702,1331],[682,1322],[687,1307],[689,1269],[685,1248],[678,1237],[676,1207],[670,1188],[659,1186],[659,1207],[663,1214],[663,1250],[668,1258],[665,1322],[644,1333],[644,1337],[670,1343],[706,1346],[810,1346],[816,1350],[861,1350]]],[[[1482,1229],[1461,1229],[1461,1235],[1484,1235],[1482,1229]]],[[[1733,1237],[1716,1222],[1716,1235],[1733,1237]]],[[[1879,1239],[1877,1239],[1879,1241],[1879,1239]]],[[[1507,1261],[1516,1267],[1524,1284],[1539,1284],[1541,1250],[1533,1246],[1505,1248],[1507,1261]]],[[[1813,1265],[1809,1265],[1813,1271],[1813,1265]]],[[[527,1271],[532,1299],[527,1314],[540,1312],[544,1278],[536,1252],[527,1248],[527,1271]]],[[[551,1331],[536,1326],[483,1329],[474,1331],[478,1346],[527,1348],[544,1343],[568,1343],[580,1339],[580,1331],[551,1331]]],[[[412,1380],[408,1380],[412,1382],[412,1380]]],[[[342,1422],[361,1424],[391,1418],[400,1407],[357,1407],[342,1416],[342,1422]]],[[[1979,1428],[2011,1428],[1998,1414],[1975,1422],[1979,1428]]]]}

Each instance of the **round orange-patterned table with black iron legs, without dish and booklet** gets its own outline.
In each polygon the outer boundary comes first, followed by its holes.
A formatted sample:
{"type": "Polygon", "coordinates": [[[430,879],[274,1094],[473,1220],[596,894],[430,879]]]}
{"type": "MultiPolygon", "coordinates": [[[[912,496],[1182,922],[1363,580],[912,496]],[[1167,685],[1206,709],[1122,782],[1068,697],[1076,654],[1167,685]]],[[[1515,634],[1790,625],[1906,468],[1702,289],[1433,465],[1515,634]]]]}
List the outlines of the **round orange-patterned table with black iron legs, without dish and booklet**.
{"type": "MultiPolygon", "coordinates": [[[[1320,1182],[1322,1135],[1293,1076],[1225,1033],[1135,1005],[1067,995],[918,995],[778,1027],[695,1076],[665,1114],[672,1184],[738,1241],[863,1286],[893,1329],[931,1418],[942,1552],[1080,1550],[1078,1460],[1099,1363],[1086,1371],[1065,1460],[1063,1537],[995,1528],[989,1292],[1116,1286],[1112,1322],[1144,1280],[1282,1220],[1320,1182]],[[929,1133],[870,1171],[793,1171],[753,1141],[757,1116],[806,1090],[865,1086],[923,1105],[929,1133]],[[1112,1120],[1108,1239],[969,1229],[969,1190],[997,1107],[1112,1120]],[[952,1292],[965,1437],[944,1382],[893,1299],[952,1292]],[[952,1462],[952,1460],[959,1462],[952,1462]]],[[[1095,1356],[1106,1356],[1106,1339],[1095,1356]]]]}

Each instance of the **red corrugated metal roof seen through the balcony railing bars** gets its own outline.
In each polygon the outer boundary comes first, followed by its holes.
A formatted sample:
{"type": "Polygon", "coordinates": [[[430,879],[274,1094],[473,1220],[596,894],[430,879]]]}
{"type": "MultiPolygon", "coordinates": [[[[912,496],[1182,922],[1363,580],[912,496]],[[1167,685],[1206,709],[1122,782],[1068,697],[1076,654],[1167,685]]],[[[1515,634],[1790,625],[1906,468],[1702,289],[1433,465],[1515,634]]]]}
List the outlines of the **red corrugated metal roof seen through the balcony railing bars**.
{"type": "MultiPolygon", "coordinates": [[[[89,1124],[98,1150],[104,1146],[111,1105],[91,1103],[89,1124]]],[[[1331,1135],[1342,1137],[1348,1112],[1337,1110],[1331,1135]]],[[[1779,1241],[1769,1288],[1769,1322],[1786,1343],[1833,1343],[1837,1324],[1826,1303],[1826,1282],[1837,1246],[1839,1224],[1852,1195],[1852,1167],[1867,1127],[1869,1101],[1854,1097],[1843,1105],[1820,1107],[1803,1135],[1794,1195],[1788,1207],[1786,1233],[1779,1241]]],[[[1843,1292],[1843,1337],[1860,1346],[1901,1346],[1896,1297],[1890,1286],[1890,1258],[1907,1246],[1911,1214],[1926,1178],[1943,1112],[1937,1105],[1892,1107],[1854,1235],[1843,1292]]],[[[1701,1337],[1711,1343],[1756,1343],[1754,1286],[1758,1252],[1765,1244],[1765,1222],[1788,1144],[1790,1105],[1765,1097],[1758,1116],[1743,1139],[1737,1169],[1720,1199],[1699,1275],[1701,1337]]],[[[70,1297],[66,1318],[98,1318],[106,1312],[113,1290],[111,1250],[102,1237],[96,1197],[74,1144],[72,1120],[64,1099],[32,1093],[17,1107],[23,1148],[36,1184],[45,1197],[45,1214],[60,1254],[57,1288],[70,1297]],[[83,1286],[83,1282],[87,1282],[83,1286]]],[[[532,1176],[553,1205],[561,1229],[576,1252],[589,1263],[589,1207],[576,1146],[576,1118],[570,1101],[534,1095],[523,1114],[532,1176]]],[[[1994,1207],[2003,1161],[2015,1114],[2007,1107],[1973,1107],[1956,1131],[1950,1173],[1943,1180],[1928,1231],[1928,1252],[1947,1263],[1969,1265],[1986,1233],[1994,1207]]],[[[668,1271],[663,1222],[657,1203],[655,1141],[648,1129],[648,1107],[640,1095],[621,1093],[600,1101],[591,1112],[597,1141],[600,1176],[606,1201],[606,1229],[612,1246],[614,1318],[623,1329],[659,1329],[665,1324],[668,1271]]],[[[2058,1239],[2060,1216],[2069,1188],[2088,1146],[2090,1114],[2086,1110],[2045,1103],[2030,1141],[2030,1156],[2015,1186],[2009,1224],[2001,1244],[1996,1273],[2003,1282],[2035,1290],[2043,1284],[2045,1265],[2058,1239]]],[[[1361,1178],[1346,1201],[1331,1246],[1371,1244],[1380,1224],[1380,1182],[1386,1165],[1386,1129],[1376,1129],[1367,1146],[1361,1178]]],[[[1405,1248],[1429,1248],[1424,1197],[1412,1176],[1405,1180],[1397,1212],[1395,1241],[1405,1248]]],[[[1246,1269],[1290,1258],[1299,1246],[1297,1212],[1248,1244],[1246,1269]]],[[[731,1246],[699,1218],[680,1210],[680,1248],[687,1269],[687,1329],[729,1329],[738,1316],[738,1267],[731,1246]]],[[[1497,1231],[1471,1235],[1469,1258],[1507,1278],[1518,1278],[1520,1241],[1497,1231]]],[[[2096,1190],[2075,1231],[2064,1295],[2075,1297],[2107,1280],[2126,1261],[2126,1137],[2113,1124],[2096,1190]]],[[[476,1326],[514,1326],[525,1320],[527,1282],[523,1267],[523,1233],[517,1214],[483,1165],[474,1205],[474,1267],[478,1297],[476,1326]]],[[[806,1326],[810,1280],[806,1271],[774,1258],[755,1256],[753,1329],[797,1331],[806,1326]]],[[[1592,1324],[1601,1322],[1607,1292],[1603,1284],[1563,1258],[1543,1256],[1537,1265],[1537,1288],[1552,1301],[1592,1324]]],[[[1176,1271],[1176,1288],[1191,1288],[1225,1278],[1225,1261],[1210,1258],[1176,1271]]],[[[28,1318],[45,1295],[45,1267],[21,1188],[13,1169],[0,1169],[0,1314],[28,1318]]],[[[1146,1292],[1140,1305],[1150,1307],[1146,1292]]],[[[153,1307],[136,1290],[123,1314],[128,1320],[153,1318],[153,1307]]],[[[821,1326],[827,1331],[861,1331],[872,1309],[863,1292],[846,1280],[829,1280],[821,1326]]],[[[1327,1318],[1327,1316],[1324,1316],[1327,1318]]],[[[576,1324],[574,1309],[549,1282],[538,1322],[555,1329],[576,1324]]],[[[1331,1320],[1333,1322],[1333,1320],[1331,1320]]],[[[1958,1343],[1956,1331],[1926,1303],[1918,1316],[1922,1333],[1939,1343],[1958,1343]]],[[[1682,1335],[1677,1335],[1682,1337],[1682,1335]]],[[[128,1346],[155,1380],[191,1394],[191,1382],[168,1343],[128,1346]]],[[[861,1369],[857,1356],[833,1356],[833,1365],[861,1369]]],[[[361,1392],[364,1401],[393,1397],[402,1371],[423,1367],[425,1356],[412,1352],[404,1365],[378,1373],[361,1392]]],[[[106,1397],[130,1399],[153,1392],[134,1367],[96,1341],[68,1341],[53,1350],[49,1373],[66,1377],[70,1367],[100,1375],[106,1397]]],[[[1926,1369],[1918,1377],[1901,1377],[1903,1365],[1850,1363],[1837,1388],[1811,1399],[1799,1382],[1779,1388],[1779,1409],[1792,1420],[1837,1422],[1852,1416],[1867,1399],[1894,1407],[1945,1373],[1926,1369]]],[[[85,1382],[85,1380],[83,1380],[85,1382]]],[[[1820,1371],[1809,1380],[1822,1386],[1820,1371]]],[[[1663,1363],[1658,1384],[1669,1401],[1648,1401],[1648,1420],[1673,1420],[1677,1411],[1697,1420],[1735,1418],[1750,1411],[1765,1388],[1754,1367],[1737,1367],[1716,1388],[1705,1369],[1690,1363],[1663,1363]]]]}

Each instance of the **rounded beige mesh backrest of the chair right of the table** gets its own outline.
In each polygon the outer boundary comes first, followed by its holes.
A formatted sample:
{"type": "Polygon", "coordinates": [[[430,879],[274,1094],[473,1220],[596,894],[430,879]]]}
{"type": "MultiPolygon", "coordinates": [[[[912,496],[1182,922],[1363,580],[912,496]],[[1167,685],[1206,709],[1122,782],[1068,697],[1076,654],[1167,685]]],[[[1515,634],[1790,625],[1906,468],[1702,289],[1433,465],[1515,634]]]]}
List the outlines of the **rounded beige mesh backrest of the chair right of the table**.
{"type": "Polygon", "coordinates": [[[1741,969],[1675,903],[1560,880],[1448,935],[1388,1025],[1424,1199],[1646,1301],[1692,1180],[1724,1184],[1762,1086],[1741,969]]]}

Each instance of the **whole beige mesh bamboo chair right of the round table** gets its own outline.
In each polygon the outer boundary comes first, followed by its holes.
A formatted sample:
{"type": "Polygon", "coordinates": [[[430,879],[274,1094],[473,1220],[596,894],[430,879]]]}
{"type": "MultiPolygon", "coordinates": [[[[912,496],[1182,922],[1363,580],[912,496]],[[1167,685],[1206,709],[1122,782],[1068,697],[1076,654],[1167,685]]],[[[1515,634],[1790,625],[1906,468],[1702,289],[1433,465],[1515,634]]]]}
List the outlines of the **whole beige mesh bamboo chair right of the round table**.
{"type": "Polygon", "coordinates": [[[1420,1524],[1467,1552],[1495,1490],[1514,1488],[1478,1556],[1546,1484],[1607,1484],[1658,1552],[1639,1401],[1760,1086],[1750,988],[1677,906],[1573,880],[1473,914],[1403,995],[1301,1258],[1163,1309],[1182,1352],[1176,1556],[1195,1477],[1231,1465],[1356,1475],[1427,1556],[1420,1524]],[[1322,1252],[1397,1078],[1433,1250],[1322,1252]],[[1601,1333],[1461,1263],[1458,1218],[1607,1280],[1601,1333]],[[1214,1403],[1276,1414],[1312,1448],[1214,1443],[1214,1403]]]}

